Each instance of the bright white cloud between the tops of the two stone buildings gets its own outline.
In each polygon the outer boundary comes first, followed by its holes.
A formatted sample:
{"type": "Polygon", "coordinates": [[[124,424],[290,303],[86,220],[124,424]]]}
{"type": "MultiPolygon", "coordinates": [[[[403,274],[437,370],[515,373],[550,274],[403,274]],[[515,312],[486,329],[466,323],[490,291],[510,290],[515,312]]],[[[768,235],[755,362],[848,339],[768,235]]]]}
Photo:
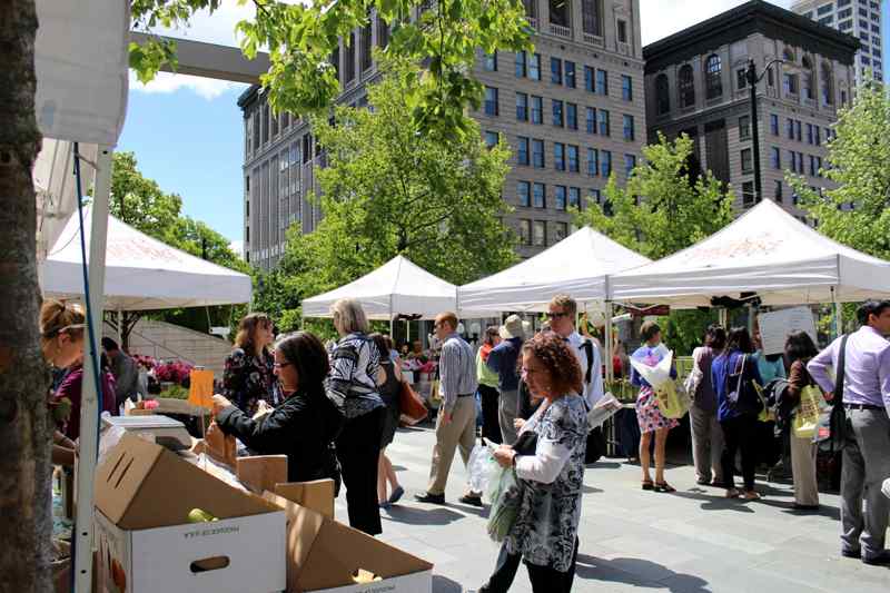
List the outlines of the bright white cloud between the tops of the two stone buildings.
{"type": "MultiPolygon", "coordinates": [[[[640,0],[640,18],[643,46],[682,31],[731,8],[743,4],[745,0],[640,0]]],[[[771,2],[789,8],[792,0],[771,2]]]]}

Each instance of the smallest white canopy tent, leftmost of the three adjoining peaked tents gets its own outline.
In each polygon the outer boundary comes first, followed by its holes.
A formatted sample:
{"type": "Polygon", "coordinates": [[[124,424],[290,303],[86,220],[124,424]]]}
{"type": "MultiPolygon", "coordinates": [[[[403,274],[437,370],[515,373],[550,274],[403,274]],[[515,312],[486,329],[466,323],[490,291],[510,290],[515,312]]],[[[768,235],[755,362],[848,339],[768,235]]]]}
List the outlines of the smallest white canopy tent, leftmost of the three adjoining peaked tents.
{"type": "Polygon", "coordinates": [[[330,317],[330,306],[340,298],[362,303],[368,319],[392,322],[398,315],[433,319],[442,312],[457,310],[457,287],[396,256],[370,274],[329,293],[303,302],[305,317],[330,317]]]}

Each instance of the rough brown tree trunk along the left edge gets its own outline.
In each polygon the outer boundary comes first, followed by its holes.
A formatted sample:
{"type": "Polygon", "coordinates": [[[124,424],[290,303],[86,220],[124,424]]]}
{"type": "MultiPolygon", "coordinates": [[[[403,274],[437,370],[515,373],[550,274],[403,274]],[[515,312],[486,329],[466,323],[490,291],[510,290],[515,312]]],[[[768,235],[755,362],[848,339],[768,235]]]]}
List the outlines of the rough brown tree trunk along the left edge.
{"type": "Polygon", "coordinates": [[[33,0],[0,1],[0,592],[52,591],[48,373],[38,329],[33,0]]]}

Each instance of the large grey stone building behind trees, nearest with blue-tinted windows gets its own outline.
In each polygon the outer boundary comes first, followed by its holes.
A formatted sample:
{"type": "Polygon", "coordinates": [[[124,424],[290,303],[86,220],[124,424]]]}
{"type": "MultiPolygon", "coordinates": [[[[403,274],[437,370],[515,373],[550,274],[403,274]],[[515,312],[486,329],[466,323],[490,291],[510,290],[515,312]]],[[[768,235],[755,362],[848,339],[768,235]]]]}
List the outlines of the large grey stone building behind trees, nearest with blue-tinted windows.
{"type": "MultiPolygon", "coordinates": [[[[503,196],[513,208],[505,223],[531,256],[572,230],[570,208],[600,201],[609,176],[620,184],[645,144],[643,48],[639,0],[525,0],[534,29],[533,52],[479,53],[475,76],[485,100],[472,116],[485,140],[513,151],[503,196]]],[[[377,76],[372,48],[385,46],[376,17],[340,42],[338,67],[345,105],[366,105],[377,76]]],[[[312,130],[287,113],[275,116],[260,89],[238,99],[245,126],[245,254],[274,267],[285,231],[310,233],[322,213],[305,198],[324,166],[312,130]]]]}

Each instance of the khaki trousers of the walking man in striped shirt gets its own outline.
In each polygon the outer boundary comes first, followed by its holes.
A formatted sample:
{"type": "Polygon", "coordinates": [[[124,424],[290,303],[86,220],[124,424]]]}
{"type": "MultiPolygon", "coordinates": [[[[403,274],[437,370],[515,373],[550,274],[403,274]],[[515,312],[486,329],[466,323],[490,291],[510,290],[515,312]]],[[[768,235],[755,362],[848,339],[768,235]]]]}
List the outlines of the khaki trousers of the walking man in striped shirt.
{"type": "Polygon", "coordinates": [[[476,401],[458,397],[452,412],[452,422],[442,422],[445,408],[439,406],[436,417],[436,445],[433,447],[433,464],[429,468],[428,494],[445,494],[448,472],[454,461],[454,449],[461,447],[464,465],[469,463],[469,453],[476,444],[476,401]]]}

